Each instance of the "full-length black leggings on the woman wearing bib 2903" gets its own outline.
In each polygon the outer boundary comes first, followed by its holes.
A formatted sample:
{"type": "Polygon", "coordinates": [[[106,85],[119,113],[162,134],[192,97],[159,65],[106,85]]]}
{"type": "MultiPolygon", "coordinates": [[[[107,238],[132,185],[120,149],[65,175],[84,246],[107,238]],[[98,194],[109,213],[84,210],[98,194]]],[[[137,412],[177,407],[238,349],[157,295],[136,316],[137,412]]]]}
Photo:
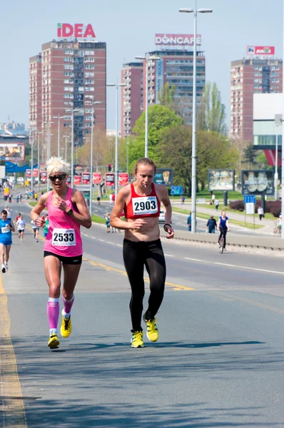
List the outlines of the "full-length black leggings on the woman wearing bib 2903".
{"type": "Polygon", "coordinates": [[[143,312],[144,265],[150,278],[150,297],[146,319],[152,320],[163,301],[166,281],[166,262],[163,255],[161,240],[151,242],[132,242],[123,240],[123,261],[131,285],[130,313],[134,331],[142,330],[141,317],[143,312]]]}

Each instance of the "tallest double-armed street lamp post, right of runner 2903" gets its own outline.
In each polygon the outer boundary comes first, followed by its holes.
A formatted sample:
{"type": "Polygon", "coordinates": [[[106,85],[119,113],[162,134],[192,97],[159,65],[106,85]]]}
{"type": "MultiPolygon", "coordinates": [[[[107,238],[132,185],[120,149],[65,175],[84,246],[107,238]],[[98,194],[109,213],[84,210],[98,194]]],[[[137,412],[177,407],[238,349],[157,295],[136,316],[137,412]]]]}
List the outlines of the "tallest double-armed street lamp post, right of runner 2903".
{"type": "Polygon", "coordinates": [[[194,45],[193,45],[193,120],[192,120],[192,163],[191,163],[191,230],[196,233],[196,34],[197,14],[211,14],[212,9],[179,9],[184,14],[194,14],[194,45]]]}

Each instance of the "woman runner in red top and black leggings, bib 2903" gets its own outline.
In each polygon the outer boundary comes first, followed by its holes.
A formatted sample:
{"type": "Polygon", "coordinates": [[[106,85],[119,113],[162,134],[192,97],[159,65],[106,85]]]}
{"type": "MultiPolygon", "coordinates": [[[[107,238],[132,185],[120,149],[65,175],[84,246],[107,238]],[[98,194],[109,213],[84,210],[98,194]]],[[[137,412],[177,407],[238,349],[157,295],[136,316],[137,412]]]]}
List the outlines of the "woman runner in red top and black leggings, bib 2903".
{"type": "Polygon", "coordinates": [[[135,166],[135,183],[126,185],[118,192],[116,205],[111,214],[111,225],[124,229],[123,260],[131,285],[130,312],[132,321],[132,347],[143,347],[141,318],[145,293],[144,265],[150,277],[148,309],[143,315],[147,326],[147,337],[151,342],[158,340],[156,313],[163,301],[166,280],[166,263],[160,240],[158,218],[161,202],[165,207],[164,230],[167,238],[173,238],[171,227],[171,201],[165,185],[156,185],[153,178],[156,164],[149,158],[141,158],[135,166]],[[121,220],[124,210],[126,221],[121,220]]]}

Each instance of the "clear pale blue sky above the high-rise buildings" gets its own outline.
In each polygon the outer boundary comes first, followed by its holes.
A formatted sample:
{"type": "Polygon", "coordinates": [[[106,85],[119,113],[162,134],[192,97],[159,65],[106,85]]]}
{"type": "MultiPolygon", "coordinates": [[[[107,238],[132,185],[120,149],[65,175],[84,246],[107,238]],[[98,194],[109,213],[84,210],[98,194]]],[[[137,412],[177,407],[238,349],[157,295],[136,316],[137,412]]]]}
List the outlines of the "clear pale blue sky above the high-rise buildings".
{"type": "MultiPolygon", "coordinates": [[[[92,24],[107,44],[107,78],[120,78],[124,61],[155,49],[156,33],[192,34],[193,16],[178,9],[194,0],[14,0],[1,6],[0,122],[8,116],[29,123],[29,57],[56,39],[56,24],[92,24]]],[[[230,61],[243,58],[247,45],[275,46],[283,53],[283,0],[198,0],[213,14],[198,15],[206,52],[206,79],[215,81],[229,122],[230,61]]],[[[115,93],[108,88],[107,126],[114,128],[115,93]]]]}

